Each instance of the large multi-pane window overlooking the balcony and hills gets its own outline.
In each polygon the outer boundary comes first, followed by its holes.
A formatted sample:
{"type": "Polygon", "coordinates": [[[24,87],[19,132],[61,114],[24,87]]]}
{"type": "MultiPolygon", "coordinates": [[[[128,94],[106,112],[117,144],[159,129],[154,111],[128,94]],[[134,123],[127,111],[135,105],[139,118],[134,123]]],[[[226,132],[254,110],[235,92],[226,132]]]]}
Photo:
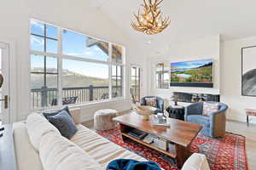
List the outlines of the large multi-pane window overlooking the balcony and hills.
{"type": "Polygon", "coordinates": [[[31,21],[32,109],[123,97],[124,48],[31,21]]]}

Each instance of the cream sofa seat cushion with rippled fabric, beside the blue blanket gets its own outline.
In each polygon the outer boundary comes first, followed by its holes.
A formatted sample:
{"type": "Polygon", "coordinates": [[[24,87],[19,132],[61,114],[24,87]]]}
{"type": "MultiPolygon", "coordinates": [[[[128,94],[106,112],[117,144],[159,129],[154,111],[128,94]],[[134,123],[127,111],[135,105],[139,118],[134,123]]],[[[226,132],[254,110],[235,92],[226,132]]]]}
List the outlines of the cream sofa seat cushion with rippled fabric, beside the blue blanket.
{"type": "Polygon", "coordinates": [[[104,139],[102,136],[83,125],[78,125],[77,127],[79,130],[75,133],[71,141],[78,144],[79,147],[96,159],[104,169],[106,169],[108,163],[114,159],[124,158],[147,161],[143,157],[129,150],[125,150],[125,148],[117,144],[113,144],[108,139],[104,139]]]}

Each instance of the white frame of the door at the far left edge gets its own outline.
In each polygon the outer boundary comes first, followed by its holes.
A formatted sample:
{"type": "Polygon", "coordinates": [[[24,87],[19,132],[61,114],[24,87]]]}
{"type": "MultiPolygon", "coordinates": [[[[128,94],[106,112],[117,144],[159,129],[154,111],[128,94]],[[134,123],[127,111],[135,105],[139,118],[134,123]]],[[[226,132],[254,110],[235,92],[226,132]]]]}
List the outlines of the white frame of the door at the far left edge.
{"type": "Polygon", "coordinates": [[[0,37],[0,42],[9,47],[9,123],[18,121],[17,116],[17,70],[15,59],[15,41],[0,37]]]}

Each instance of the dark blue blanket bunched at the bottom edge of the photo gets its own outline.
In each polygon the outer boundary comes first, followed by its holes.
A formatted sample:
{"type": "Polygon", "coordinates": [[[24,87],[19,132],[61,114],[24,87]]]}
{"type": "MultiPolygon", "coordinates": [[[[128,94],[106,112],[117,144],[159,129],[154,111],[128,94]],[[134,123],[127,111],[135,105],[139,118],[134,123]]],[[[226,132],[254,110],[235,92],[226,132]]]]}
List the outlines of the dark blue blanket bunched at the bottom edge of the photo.
{"type": "Polygon", "coordinates": [[[108,164],[107,170],[161,170],[154,161],[117,159],[108,164]]]}

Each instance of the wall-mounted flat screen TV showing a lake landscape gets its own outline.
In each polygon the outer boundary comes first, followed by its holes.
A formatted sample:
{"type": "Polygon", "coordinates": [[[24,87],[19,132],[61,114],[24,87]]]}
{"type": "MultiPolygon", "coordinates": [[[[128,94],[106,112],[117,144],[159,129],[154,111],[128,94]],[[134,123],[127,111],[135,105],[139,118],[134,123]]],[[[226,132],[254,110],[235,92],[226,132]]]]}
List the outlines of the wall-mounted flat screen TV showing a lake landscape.
{"type": "Polygon", "coordinates": [[[171,87],[213,87],[213,59],[171,63],[171,87]]]}

